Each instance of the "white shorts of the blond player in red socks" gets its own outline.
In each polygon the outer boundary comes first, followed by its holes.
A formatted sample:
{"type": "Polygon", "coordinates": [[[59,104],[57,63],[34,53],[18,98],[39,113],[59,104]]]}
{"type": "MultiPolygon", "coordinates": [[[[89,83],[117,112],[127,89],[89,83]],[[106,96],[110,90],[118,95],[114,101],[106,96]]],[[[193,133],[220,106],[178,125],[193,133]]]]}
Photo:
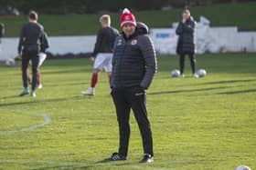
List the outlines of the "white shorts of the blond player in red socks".
{"type": "Polygon", "coordinates": [[[112,53],[99,53],[96,56],[93,68],[101,71],[105,70],[107,73],[112,73],[112,53]]]}

